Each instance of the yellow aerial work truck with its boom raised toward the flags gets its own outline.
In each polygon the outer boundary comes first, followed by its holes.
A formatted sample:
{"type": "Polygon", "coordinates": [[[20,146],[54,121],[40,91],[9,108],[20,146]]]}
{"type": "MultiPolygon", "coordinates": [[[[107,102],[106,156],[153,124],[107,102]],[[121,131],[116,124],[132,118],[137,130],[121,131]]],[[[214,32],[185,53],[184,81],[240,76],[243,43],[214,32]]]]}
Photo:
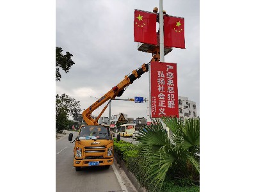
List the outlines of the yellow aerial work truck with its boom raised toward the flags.
{"type": "MultiPolygon", "coordinates": [[[[159,61],[159,48],[155,52],[152,52],[151,61],[159,61]]],[[[125,76],[120,83],[100,97],[92,106],[83,111],[83,119],[87,125],[81,125],[79,135],[74,141],[72,141],[72,133],[68,136],[70,142],[75,142],[74,167],[76,171],[81,170],[81,167],[84,166],[106,166],[106,168],[109,168],[113,164],[114,142],[111,129],[109,126],[99,125],[98,120],[108,107],[110,100],[120,97],[129,84],[132,84],[133,81],[140,78],[147,71],[148,63],[144,63],[138,69],[133,70],[131,74],[125,76]],[[91,116],[92,112],[108,100],[108,104],[102,109],[99,116],[93,119],[91,116]]],[[[120,135],[117,136],[116,140],[120,140],[120,135]]]]}

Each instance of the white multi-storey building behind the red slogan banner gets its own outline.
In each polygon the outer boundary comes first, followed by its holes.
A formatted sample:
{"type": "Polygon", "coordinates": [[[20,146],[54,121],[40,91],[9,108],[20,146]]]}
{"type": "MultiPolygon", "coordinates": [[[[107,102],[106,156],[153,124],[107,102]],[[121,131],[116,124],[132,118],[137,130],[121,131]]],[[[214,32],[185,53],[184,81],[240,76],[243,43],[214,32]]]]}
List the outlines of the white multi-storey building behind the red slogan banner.
{"type": "Polygon", "coordinates": [[[196,103],[188,100],[188,97],[179,96],[179,116],[180,118],[196,117],[196,103]]]}

